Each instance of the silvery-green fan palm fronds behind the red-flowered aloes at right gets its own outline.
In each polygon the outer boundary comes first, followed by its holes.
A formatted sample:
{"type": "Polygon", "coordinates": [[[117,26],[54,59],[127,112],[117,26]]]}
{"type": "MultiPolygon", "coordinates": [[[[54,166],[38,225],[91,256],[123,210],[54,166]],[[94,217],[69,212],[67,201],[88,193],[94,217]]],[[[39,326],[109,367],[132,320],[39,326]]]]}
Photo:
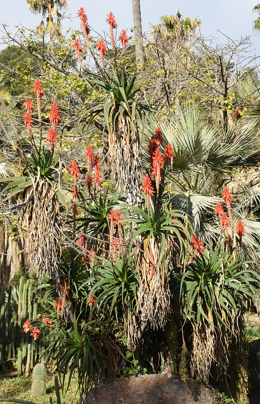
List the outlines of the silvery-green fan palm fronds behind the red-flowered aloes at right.
{"type": "MultiPolygon", "coordinates": [[[[221,126],[210,125],[201,112],[194,107],[180,108],[179,119],[169,115],[157,121],[165,139],[174,150],[170,181],[172,209],[181,209],[187,214],[194,232],[203,242],[211,243],[220,236],[214,208],[221,200],[227,179],[235,177],[234,172],[241,166],[254,166],[260,161],[258,128],[253,123],[237,124],[225,134],[221,126]],[[228,175],[230,174],[230,176],[228,175]]],[[[147,142],[151,129],[146,128],[147,142]]],[[[146,141],[142,139],[144,170],[149,170],[149,156],[146,141]]],[[[244,246],[257,254],[260,245],[260,225],[254,220],[257,207],[248,192],[239,190],[232,205],[233,221],[236,225],[242,219],[246,226],[244,246]],[[252,200],[251,207],[249,199],[252,200]]],[[[234,225],[234,227],[235,227],[234,225]]]]}

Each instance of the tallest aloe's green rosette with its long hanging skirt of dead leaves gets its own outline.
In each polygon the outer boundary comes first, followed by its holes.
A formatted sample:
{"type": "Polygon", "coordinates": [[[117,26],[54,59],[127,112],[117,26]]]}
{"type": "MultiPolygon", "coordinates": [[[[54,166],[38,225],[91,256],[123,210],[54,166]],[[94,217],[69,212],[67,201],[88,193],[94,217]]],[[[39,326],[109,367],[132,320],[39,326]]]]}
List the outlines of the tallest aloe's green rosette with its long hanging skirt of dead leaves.
{"type": "Polygon", "coordinates": [[[89,111],[91,117],[103,112],[108,129],[109,162],[112,177],[117,189],[124,190],[128,204],[141,207],[142,156],[137,117],[144,125],[144,116],[149,108],[137,99],[138,90],[134,90],[137,74],[129,80],[125,70],[120,75],[106,72],[108,79],[100,77],[94,81],[108,94],[105,103],[89,111]]]}

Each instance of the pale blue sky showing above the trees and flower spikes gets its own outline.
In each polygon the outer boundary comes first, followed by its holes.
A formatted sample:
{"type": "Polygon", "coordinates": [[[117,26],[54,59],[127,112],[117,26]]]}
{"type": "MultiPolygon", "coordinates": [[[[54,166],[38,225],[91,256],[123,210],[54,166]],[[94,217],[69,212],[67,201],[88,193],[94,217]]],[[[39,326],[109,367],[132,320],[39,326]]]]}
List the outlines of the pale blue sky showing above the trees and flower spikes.
{"type": "MultiPolygon", "coordinates": [[[[9,30],[15,32],[15,25],[22,24],[25,27],[34,28],[40,22],[39,15],[30,13],[26,0],[0,0],[1,17],[0,23],[9,24],[9,30]]],[[[108,31],[105,22],[106,15],[112,11],[118,23],[118,29],[129,29],[133,26],[133,11],[131,0],[67,0],[67,15],[71,20],[63,22],[63,30],[69,26],[79,27],[79,19],[76,17],[78,8],[84,7],[88,15],[90,26],[96,31],[108,31]]],[[[179,9],[184,17],[202,18],[204,36],[219,36],[217,30],[224,32],[232,39],[241,36],[253,35],[252,21],[256,18],[252,14],[257,0],[140,0],[143,29],[149,30],[149,24],[158,24],[163,15],[175,14],[179,9]]],[[[260,39],[252,38],[256,55],[260,55],[260,39]]],[[[3,45],[0,45],[3,48],[3,45]]]]}

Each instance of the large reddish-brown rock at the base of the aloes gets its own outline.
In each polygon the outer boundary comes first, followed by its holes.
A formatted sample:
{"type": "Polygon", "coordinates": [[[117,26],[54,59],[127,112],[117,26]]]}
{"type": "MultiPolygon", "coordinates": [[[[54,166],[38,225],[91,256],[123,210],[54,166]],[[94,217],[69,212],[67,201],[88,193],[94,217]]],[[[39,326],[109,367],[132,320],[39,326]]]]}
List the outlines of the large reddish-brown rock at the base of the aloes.
{"type": "Polygon", "coordinates": [[[88,404],[215,404],[212,388],[193,379],[182,381],[170,369],[160,375],[140,375],[119,379],[90,390],[88,404]]]}

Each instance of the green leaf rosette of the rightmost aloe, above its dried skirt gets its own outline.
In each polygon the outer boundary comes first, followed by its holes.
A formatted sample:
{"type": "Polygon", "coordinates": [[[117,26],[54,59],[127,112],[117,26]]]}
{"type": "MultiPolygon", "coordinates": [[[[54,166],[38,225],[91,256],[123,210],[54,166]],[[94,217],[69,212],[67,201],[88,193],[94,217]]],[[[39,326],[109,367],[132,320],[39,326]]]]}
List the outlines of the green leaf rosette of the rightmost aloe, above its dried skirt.
{"type": "Polygon", "coordinates": [[[232,328],[236,316],[257,296],[260,278],[249,269],[251,263],[222,250],[223,244],[215,251],[207,246],[204,255],[196,254],[194,263],[179,276],[184,321],[189,319],[195,326],[201,317],[211,323],[213,315],[218,323],[232,328]]]}

